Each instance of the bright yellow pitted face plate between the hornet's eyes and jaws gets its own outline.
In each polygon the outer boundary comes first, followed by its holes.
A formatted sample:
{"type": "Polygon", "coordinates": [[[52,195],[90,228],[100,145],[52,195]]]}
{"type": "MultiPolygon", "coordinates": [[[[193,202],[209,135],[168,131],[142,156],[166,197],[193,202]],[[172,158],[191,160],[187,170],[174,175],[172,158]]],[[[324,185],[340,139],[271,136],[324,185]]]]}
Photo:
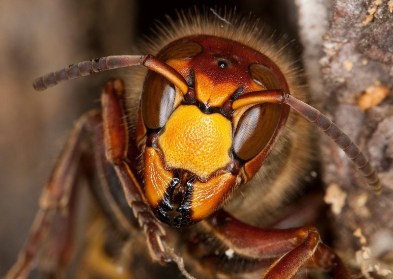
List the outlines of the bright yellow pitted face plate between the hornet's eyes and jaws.
{"type": "Polygon", "coordinates": [[[204,180],[231,162],[232,125],[219,113],[180,106],[169,117],[158,143],[166,167],[189,170],[204,180]]]}

